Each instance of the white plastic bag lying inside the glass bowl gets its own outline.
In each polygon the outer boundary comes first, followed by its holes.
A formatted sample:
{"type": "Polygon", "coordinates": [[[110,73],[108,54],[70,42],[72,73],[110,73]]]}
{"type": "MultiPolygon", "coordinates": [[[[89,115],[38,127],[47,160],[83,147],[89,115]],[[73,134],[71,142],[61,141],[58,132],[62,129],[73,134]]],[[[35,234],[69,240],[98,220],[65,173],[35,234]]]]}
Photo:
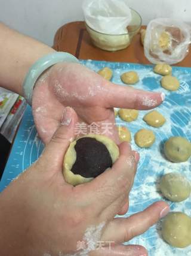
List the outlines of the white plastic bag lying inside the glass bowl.
{"type": "Polygon", "coordinates": [[[127,0],[85,0],[82,8],[90,28],[110,35],[127,34],[131,10],[127,0]]]}

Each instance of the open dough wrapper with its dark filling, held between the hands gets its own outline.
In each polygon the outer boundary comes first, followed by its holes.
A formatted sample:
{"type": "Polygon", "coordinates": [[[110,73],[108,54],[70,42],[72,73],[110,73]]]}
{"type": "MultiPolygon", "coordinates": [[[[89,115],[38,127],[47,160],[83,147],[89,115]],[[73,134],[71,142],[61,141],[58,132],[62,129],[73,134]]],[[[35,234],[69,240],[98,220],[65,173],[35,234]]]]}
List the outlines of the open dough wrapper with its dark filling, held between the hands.
{"type": "Polygon", "coordinates": [[[97,134],[88,134],[73,141],[63,161],[63,176],[73,186],[89,182],[103,173],[119,157],[119,148],[113,140],[97,134]]]}

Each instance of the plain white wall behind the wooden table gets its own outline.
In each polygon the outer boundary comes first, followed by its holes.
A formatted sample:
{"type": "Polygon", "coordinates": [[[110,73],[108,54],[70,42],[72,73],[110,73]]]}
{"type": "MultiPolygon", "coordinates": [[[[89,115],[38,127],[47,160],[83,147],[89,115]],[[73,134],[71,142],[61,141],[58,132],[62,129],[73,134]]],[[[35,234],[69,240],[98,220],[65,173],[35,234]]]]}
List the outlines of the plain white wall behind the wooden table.
{"type": "MultiPolygon", "coordinates": [[[[0,20],[51,46],[54,34],[61,25],[83,19],[82,1],[0,0],[0,20]]],[[[128,0],[128,2],[130,7],[141,14],[143,24],[156,17],[172,17],[191,23],[190,0],[128,0]]]]}

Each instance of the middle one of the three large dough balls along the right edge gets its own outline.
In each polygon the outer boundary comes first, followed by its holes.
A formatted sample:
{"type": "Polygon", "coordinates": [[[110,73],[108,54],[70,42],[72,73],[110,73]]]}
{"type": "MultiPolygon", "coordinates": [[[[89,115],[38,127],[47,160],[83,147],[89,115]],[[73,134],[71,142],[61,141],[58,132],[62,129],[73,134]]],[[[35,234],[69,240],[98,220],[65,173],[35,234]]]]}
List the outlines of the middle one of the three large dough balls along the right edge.
{"type": "Polygon", "coordinates": [[[173,202],[181,202],[189,197],[191,186],[189,180],[179,173],[165,174],[160,182],[162,195],[173,202]]]}

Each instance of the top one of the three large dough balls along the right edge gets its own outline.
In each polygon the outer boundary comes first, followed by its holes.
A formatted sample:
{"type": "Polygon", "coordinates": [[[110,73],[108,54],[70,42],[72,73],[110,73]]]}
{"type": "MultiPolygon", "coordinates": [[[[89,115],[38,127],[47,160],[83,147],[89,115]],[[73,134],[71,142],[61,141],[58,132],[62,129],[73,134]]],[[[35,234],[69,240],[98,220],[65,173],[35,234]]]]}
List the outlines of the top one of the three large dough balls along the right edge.
{"type": "Polygon", "coordinates": [[[183,137],[171,137],[164,144],[164,153],[171,162],[186,162],[191,155],[191,143],[183,137]]]}

